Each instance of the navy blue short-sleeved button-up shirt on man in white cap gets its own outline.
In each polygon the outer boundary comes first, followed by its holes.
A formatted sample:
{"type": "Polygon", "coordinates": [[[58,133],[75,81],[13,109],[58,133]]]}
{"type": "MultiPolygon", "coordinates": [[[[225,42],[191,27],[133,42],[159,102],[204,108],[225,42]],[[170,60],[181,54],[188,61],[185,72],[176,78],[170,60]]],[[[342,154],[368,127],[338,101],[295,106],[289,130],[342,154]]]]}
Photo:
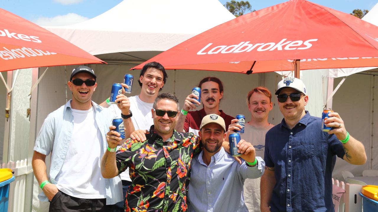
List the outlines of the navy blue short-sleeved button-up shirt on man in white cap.
{"type": "Polygon", "coordinates": [[[308,111],[293,129],[284,119],[270,129],[264,160],[276,177],[271,211],[332,212],[332,159],[344,154],[342,143],[321,131],[321,118],[308,111]]]}

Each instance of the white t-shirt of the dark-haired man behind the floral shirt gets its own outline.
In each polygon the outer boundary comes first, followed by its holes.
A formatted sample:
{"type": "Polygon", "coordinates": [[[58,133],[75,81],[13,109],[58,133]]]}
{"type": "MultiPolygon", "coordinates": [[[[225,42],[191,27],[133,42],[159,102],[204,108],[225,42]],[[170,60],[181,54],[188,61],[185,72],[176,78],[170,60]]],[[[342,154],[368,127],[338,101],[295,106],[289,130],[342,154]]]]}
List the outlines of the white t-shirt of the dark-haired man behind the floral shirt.
{"type": "MultiPolygon", "coordinates": [[[[131,120],[134,125],[134,129],[146,129],[149,130],[151,125],[153,125],[152,119],[152,106],[153,103],[146,103],[142,101],[138,95],[129,97],[130,101],[130,111],[133,113],[131,120]]],[[[118,108],[116,104],[112,104],[109,106],[110,109],[115,113],[115,115],[121,117],[121,110],[118,108]]],[[[119,148],[120,146],[118,146],[119,148]]],[[[131,181],[129,176],[129,168],[127,168],[124,172],[121,173],[122,180],[131,181]]]]}

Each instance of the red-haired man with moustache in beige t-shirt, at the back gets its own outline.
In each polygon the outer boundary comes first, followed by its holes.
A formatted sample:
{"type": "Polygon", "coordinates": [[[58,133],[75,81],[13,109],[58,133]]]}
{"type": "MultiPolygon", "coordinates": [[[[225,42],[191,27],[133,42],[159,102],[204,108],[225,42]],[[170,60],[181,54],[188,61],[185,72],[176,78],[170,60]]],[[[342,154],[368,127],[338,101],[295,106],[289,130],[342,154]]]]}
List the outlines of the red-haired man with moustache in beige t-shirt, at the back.
{"type": "MultiPolygon", "coordinates": [[[[273,109],[271,98],[272,94],[265,87],[257,87],[249,91],[247,105],[251,112],[251,121],[245,124],[244,134],[240,134],[241,139],[253,144],[256,156],[262,158],[264,158],[265,134],[274,126],[268,123],[269,111],[273,109]]],[[[231,125],[240,126],[235,124],[236,121],[237,119],[232,120],[231,125]]],[[[246,179],[244,182],[244,201],[249,212],[260,212],[260,180],[261,177],[246,179]]]]}

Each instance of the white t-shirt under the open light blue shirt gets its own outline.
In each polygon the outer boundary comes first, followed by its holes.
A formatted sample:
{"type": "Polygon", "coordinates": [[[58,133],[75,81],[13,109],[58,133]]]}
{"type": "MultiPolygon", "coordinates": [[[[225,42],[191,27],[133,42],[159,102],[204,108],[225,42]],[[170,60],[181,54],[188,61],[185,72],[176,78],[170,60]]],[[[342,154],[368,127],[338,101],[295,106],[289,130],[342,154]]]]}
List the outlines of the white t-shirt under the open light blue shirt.
{"type": "Polygon", "coordinates": [[[101,132],[93,107],[87,111],[72,110],[74,125],[70,145],[56,187],[72,197],[106,198],[105,179],[101,175],[100,156],[104,153],[101,132]]]}

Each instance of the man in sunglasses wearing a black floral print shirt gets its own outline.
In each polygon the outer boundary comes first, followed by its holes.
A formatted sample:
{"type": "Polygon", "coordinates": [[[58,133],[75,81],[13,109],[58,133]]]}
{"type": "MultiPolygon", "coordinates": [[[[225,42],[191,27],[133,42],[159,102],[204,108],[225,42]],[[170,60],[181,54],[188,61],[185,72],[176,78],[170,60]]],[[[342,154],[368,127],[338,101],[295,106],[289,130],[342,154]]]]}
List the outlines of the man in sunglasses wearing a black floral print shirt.
{"type": "Polygon", "coordinates": [[[104,178],[112,178],[130,168],[132,185],[126,197],[125,211],[186,211],[186,194],[192,157],[199,152],[192,133],[174,130],[179,110],[178,99],[160,94],[153,103],[154,125],[146,141],[127,139],[115,152],[119,134],[110,126],[108,151],[101,161],[104,178]]]}

